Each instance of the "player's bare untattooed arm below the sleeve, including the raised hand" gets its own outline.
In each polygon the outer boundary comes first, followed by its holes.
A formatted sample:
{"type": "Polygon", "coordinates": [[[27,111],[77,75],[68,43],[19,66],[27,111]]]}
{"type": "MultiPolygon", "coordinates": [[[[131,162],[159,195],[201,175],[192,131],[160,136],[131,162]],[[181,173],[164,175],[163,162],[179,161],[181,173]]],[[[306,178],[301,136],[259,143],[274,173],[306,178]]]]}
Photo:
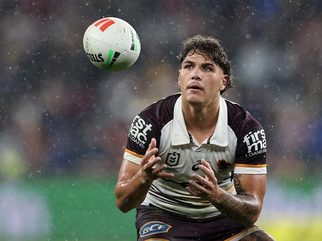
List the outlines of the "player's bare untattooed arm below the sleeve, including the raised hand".
{"type": "Polygon", "coordinates": [[[144,201],[153,180],[160,177],[173,177],[172,173],[161,173],[166,169],[165,164],[155,167],[161,160],[160,157],[154,156],[158,152],[155,147],[156,139],[152,138],[141,165],[123,159],[118,173],[118,183],[114,190],[116,205],[122,212],[128,212],[144,201]]]}

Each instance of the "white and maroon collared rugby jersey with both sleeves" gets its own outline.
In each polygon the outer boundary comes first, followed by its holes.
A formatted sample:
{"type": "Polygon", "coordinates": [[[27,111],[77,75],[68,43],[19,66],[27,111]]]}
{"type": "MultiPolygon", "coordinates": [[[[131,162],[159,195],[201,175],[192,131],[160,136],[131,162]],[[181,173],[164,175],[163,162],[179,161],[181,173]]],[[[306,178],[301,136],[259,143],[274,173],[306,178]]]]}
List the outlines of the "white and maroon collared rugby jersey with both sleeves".
{"type": "MultiPolygon", "coordinates": [[[[266,174],[266,139],[263,128],[240,105],[220,97],[219,116],[212,136],[198,143],[185,125],[181,93],[153,103],[133,120],[124,158],[141,165],[152,138],[156,139],[161,157],[157,164],[166,164],[164,173],[172,178],[154,180],[143,205],[153,204],[165,210],[192,218],[220,214],[209,201],[186,191],[201,159],[210,163],[218,185],[236,194],[232,174],[266,174]]],[[[196,181],[196,180],[194,180],[196,181]]]]}

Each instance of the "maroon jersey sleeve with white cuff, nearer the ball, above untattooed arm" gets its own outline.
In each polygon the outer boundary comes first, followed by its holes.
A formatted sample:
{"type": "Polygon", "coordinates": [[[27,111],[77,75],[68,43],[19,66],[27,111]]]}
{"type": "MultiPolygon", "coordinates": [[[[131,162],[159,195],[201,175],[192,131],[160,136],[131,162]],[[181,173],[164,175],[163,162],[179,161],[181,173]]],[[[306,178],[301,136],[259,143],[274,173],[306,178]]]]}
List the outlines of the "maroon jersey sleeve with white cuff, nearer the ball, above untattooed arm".
{"type": "Polygon", "coordinates": [[[144,113],[139,113],[129,128],[128,142],[123,158],[141,165],[141,159],[145,155],[152,138],[156,139],[156,147],[158,147],[160,137],[155,124],[144,113]]]}

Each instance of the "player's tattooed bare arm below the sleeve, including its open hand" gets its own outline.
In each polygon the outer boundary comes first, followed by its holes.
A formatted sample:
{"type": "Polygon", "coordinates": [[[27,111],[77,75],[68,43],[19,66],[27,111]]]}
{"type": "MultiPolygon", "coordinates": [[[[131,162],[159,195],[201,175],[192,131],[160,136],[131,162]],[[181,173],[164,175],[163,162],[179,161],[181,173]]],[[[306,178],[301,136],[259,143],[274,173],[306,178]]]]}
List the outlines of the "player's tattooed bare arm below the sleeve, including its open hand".
{"type": "Polygon", "coordinates": [[[209,163],[202,159],[199,166],[206,177],[198,174],[193,177],[203,186],[190,180],[189,184],[195,188],[187,187],[187,191],[196,196],[210,201],[221,213],[233,221],[245,226],[254,224],[259,215],[266,192],[266,174],[234,174],[234,184],[237,195],[223,190],[217,185],[217,179],[209,163]]]}

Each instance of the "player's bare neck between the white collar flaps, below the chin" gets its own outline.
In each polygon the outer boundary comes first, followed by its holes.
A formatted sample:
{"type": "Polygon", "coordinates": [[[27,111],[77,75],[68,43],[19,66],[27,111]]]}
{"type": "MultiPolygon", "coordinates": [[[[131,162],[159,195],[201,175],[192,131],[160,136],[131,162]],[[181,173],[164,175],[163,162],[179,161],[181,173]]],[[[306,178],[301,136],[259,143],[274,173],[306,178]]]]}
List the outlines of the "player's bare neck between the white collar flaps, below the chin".
{"type": "Polygon", "coordinates": [[[182,112],[189,132],[211,132],[212,135],[219,115],[219,98],[203,106],[193,106],[183,101],[182,112]]]}

